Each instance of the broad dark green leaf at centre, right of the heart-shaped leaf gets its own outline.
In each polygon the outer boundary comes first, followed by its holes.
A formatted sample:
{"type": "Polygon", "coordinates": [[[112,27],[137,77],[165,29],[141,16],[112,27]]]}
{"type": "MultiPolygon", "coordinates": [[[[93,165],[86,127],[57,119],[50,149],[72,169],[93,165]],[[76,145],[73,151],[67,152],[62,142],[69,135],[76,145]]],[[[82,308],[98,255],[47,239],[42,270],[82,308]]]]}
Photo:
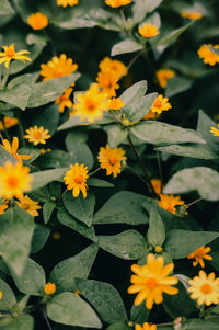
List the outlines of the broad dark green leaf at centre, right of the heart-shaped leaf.
{"type": "Polygon", "coordinates": [[[146,197],[128,191],[114,194],[94,215],[93,224],[148,224],[148,216],[141,204],[146,197]],[[129,207],[127,207],[129,205],[129,207]]]}

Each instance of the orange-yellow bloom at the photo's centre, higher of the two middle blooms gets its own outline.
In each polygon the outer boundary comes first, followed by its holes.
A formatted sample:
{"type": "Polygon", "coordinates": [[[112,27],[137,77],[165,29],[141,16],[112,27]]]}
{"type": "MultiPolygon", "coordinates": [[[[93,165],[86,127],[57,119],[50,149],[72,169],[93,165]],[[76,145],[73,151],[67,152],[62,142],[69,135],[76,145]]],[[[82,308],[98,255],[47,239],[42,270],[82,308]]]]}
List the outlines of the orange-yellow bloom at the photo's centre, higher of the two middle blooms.
{"type": "Polygon", "coordinates": [[[120,173],[122,161],[125,161],[125,150],[123,148],[111,149],[108,145],[100,148],[99,162],[101,163],[102,169],[106,169],[106,175],[113,173],[116,178],[120,173]]]}

